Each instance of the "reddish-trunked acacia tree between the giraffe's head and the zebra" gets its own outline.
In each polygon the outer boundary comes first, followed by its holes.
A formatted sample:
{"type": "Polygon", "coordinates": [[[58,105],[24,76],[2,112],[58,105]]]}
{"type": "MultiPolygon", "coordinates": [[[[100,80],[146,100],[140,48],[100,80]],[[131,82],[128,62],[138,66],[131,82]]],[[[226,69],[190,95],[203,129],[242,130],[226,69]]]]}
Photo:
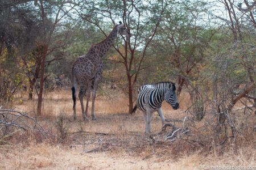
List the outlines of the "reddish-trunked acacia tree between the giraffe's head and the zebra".
{"type": "Polygon", "coordinates": [[[113,25],[119,20],[125,23],[132,33],[130,39],[123,37],[119,40],[121,43],[114,45],[119,57],[109,59],[114,63],[120,63],[125,69],[124,74],[127,78],[125,91],[129,95],[129,113],[133,109],[133,90],[139,73],[144,69],[143,62],[147,59],[147,49],[158,32],[164,10],[169,5],[166,1],[92,1],[82,6],[85,10],[77,11],[81,18],[95,25],[105,36],[107,33],[104,27],[109,26],[109,23],[113,25]],[[108,24],[103,20],[109,20],[108,24]]]}

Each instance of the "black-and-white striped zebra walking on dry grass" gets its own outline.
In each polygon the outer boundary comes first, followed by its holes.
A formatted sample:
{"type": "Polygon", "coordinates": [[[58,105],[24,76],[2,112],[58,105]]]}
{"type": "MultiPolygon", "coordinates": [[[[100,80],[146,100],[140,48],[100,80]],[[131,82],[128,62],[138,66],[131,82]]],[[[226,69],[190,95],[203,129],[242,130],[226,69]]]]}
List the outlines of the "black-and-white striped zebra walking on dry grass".
{"type": "Polygon", "coordinates": [[[162,126],[164,125],[165,118],[161,108],[163,100],[169,103],[173,109],[176,110],[179,108],[179,101],[177,100],[175,90],[175,83],[172,82],[147,84],[139,88],[137,104],[131,113],[135,113],[137,108],[143,112],[144,119],[146,121],[146,134],[151,133],[151,120],[153,112],[158,112],[162,121],[162,126]]]}

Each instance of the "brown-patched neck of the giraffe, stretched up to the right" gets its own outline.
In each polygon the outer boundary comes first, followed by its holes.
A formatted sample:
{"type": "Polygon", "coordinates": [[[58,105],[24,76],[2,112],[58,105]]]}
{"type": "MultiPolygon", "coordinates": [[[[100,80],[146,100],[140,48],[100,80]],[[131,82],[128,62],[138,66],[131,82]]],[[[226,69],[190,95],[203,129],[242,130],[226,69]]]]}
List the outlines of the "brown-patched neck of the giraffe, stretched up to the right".
{"type": "Polygon", "coordinates": [[[105,40],[101,41],[98,44],[94,44],[94,48],[96,48],[97,53],[100,54],[101,57],[104,57],[106,52],[111,48],[115,38],[117,37],[118,30],[117,25],[113,28],[112,32],[110,32],[109,36],[106,37],[105,40]]]}

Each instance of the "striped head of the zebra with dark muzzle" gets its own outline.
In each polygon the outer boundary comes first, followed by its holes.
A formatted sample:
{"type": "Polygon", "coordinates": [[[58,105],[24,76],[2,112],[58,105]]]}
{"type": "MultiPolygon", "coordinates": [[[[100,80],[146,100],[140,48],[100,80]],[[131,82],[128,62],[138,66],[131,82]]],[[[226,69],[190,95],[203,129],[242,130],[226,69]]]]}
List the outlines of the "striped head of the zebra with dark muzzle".
{"type": "Polygon", "coordinates": [[[164,100],[166,100],[166,102],[169,103],[172,108],[176,110],[179,109],[179,101],[177,100],[175,90],[175,83],[170,82],[166,94],[164,95],[164,100]]]}

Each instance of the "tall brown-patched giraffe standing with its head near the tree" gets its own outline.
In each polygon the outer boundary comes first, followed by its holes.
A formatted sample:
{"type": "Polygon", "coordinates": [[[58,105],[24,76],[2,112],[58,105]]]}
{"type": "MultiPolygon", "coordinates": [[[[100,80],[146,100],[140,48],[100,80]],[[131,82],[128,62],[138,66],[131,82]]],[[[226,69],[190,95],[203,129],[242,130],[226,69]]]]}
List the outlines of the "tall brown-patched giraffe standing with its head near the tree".
{"type": "Polygon", "coordinates": [[[72,98],[73,98],[73,117],[76,120],[76,93],[77,87],[80,85],[79,90],[79,100],[82,108],[82,117],[84,120],[88,120],[88,103],[90,99],[90,91],[93,88],[92,92],[92,120],[96,120],[94,113],[94,101],[96,97],[96,91],[98,83],[100,83],[103,63],[102,59],[105,56],[105,53],[108,52],[112,46],[117,35],[125,35],[130,37],[130,32],[125,28],[125,25],[122,22],[119,22],[118,25],[115,25],[112,32],[106,37],[105,40],[101,41],[98,44],[92,44],[88,53],[83,56],[80,56],[76,59],[72,66],[72,98]],[[86,93],[86,108],[84,111],[83,97],[86,93]]]}

